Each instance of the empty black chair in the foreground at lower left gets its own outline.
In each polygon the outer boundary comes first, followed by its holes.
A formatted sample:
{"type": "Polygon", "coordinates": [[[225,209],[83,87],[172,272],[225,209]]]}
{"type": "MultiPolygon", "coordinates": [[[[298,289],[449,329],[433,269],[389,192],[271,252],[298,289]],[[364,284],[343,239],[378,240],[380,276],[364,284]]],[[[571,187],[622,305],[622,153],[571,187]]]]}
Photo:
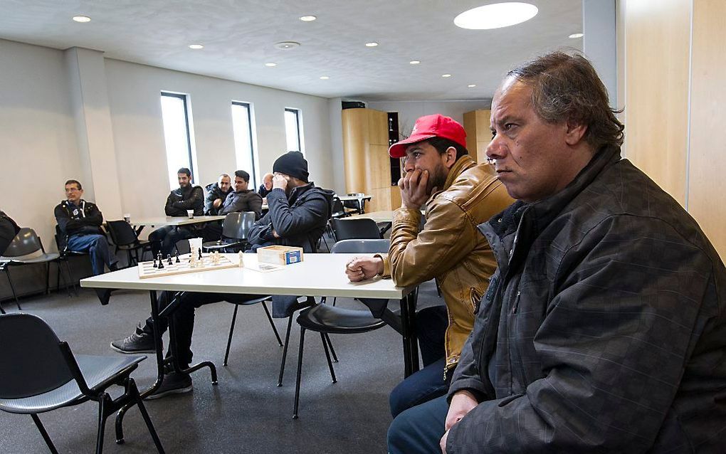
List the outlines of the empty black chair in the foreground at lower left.
{"type": "MultiPolygon", "coordinates": [[[[74,356],[40,317],[30,314],[0,316],[0,410],[30,415],[48,449],[57,453],[38,413],[78,405],[99,403],[96,452],[103,450],[106,419],[124,405],[138,405],[156,449],[163,447],[131,371],[145,356],[74,356]],[[123,385],[124,393],[113,399],[106,389],[123,385]]],[[[118,434],[118,431],[117,431],[118,434]]],[[[6,437],[9,434],[6,433],[6,437]]],[[[123,443],[123,438],[117,439],[123,443]]]]}

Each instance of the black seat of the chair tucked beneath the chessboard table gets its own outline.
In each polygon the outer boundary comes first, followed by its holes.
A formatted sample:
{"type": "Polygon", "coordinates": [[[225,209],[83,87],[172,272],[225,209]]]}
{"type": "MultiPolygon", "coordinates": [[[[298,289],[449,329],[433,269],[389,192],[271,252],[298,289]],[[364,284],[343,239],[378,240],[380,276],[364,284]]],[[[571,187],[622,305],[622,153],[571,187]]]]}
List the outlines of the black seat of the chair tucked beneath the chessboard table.
{"type": "Polygon", "coordinates": [[[318,333],[354,334],[373,331],[386,325],[367,311],[343,309],[342,307],[318,304],[298,315],[298,324],[318,333]]]}

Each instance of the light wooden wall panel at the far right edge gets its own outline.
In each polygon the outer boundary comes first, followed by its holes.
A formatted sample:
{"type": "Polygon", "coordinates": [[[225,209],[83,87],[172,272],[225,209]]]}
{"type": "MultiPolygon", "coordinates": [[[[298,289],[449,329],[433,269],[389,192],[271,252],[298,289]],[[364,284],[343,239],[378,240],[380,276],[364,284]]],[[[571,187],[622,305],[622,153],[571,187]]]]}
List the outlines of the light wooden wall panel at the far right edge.
{"type": "Polygon", "coordinates": [[[693,1],[688,211],[726,258],[726,2],[693,1]]]}

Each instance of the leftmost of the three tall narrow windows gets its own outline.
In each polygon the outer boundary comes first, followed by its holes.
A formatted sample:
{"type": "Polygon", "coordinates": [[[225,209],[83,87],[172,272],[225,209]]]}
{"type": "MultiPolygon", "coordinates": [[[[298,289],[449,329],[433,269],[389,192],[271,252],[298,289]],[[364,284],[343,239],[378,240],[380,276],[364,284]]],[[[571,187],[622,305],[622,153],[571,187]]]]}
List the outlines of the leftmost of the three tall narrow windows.
{"type": "Polygon", "coordinates": [[[164,142],[166,142],[166,167],[169,187],[179,187],[176,171],[187,167],[196,181],[195,156],[192,153],[192,134],[189,124],[187,95],[161,92],[161,116],[164,123],[164,142]]]}

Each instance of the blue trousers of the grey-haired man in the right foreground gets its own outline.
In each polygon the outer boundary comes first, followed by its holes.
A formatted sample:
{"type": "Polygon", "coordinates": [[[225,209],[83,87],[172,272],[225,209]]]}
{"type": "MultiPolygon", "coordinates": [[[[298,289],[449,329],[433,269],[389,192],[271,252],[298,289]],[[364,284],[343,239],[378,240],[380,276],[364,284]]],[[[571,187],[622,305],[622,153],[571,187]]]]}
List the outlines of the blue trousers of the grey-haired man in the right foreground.
{"type": "Polygon", "coordinates": [[[441,453],[444,422],[449,404],[446,396],[429,400],[396,416],[388,427],[388,453],[441,453]]]}

